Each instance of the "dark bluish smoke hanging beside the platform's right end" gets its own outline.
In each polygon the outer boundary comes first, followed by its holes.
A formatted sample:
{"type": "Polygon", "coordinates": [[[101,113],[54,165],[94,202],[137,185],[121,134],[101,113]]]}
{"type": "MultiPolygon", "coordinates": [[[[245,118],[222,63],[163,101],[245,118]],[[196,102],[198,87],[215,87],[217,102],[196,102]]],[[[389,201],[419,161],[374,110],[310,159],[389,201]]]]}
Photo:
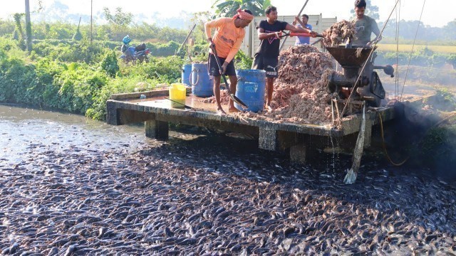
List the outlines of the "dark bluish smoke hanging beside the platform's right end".
{"type": "Polygon", "coordinates": [[[391,159],[398,163],[408,158],[406,166],[412,170],[428,169],[429,175],[456,181],[456,113],[442,119],[410,102],[398,102],[394,108],[395,119],[385,129],[391,159]]]}

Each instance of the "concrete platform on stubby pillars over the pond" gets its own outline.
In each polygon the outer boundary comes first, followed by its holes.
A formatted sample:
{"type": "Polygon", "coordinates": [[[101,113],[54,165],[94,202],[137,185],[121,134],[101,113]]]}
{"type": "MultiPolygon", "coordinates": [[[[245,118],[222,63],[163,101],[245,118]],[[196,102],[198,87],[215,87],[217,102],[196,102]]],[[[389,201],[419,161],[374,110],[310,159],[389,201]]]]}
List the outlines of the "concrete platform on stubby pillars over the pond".
{"type": "MultiPolygon", "coordinates": [[[[145,135],[155,139],[168,138],[169,123],[250,134],[258,139],[260,149],[290,149],[291,159],[301,162],[306,161],[309,146],[327,144],[328,138],[356,139],[361,124],[361,114],[346,117],[341,129],[333,129],[329,124],[274,123],[244,117],[241,119],[233,114],[220,116],[214,103],[202,103],[202,98],[193,95],[187,95],[185,102],[185,105],[192,107],[191,110],[172,108],[167,97],[167,89],[112,95],[107,102],[107,122],[113,125],[145,122],[145,135]],[[145,95],[146,98],[141,100],[140,95],[145,95]]],[[[394,118],[392,107],[381,107],[367,112],[365,147],[371,144],[372,127],[378,124],[378,113],[381,114],[383,122],[394,118]]]]}

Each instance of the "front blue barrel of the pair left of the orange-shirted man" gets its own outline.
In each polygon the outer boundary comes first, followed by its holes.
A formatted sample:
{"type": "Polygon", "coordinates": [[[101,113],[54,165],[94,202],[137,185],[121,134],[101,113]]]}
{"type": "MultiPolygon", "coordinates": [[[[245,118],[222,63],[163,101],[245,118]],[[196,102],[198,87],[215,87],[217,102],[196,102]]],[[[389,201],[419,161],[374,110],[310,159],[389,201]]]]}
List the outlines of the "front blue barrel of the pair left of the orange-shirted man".
{"type": "Polygon", "coordinates": [[[207,63],[193,63],[190,77],[192,95],[197,97],[210,97],[214,95],[214,90],[212,90],[214,81],[209,78],[207,63]]]}

